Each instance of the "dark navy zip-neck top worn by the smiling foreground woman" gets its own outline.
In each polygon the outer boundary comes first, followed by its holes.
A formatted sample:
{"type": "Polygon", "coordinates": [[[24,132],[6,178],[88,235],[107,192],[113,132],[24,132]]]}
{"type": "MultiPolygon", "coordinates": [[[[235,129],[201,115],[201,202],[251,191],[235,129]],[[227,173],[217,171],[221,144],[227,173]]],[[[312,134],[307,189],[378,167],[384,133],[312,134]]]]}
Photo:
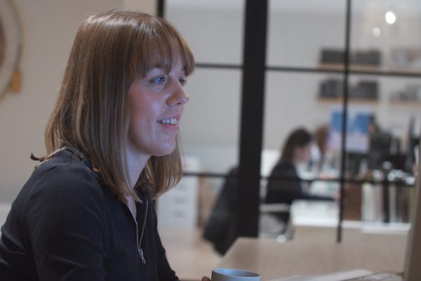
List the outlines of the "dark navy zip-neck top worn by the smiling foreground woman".
{"type": "Polygon", "coordinates": [[[178,280],[149,192],[136,205],[139,240],[147,211],[142,263],[130,209],[98,177],[74,150],[33,172],[1,228],[0,280],[178,280]]]}

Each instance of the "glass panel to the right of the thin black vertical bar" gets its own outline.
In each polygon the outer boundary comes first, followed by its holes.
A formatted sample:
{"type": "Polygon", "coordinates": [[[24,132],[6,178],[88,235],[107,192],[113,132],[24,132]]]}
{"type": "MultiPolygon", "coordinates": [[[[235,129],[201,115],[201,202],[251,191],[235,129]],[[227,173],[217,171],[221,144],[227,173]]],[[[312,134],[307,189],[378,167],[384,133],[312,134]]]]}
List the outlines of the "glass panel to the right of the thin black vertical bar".
{"type": "Polygon", "coordinates": [[[407,230],[421,127],[419,1],[352,1],[345,220],[407,230]],[[392,224],[390,224],[392,223],[392,224]],[[399,224],[396,224],[399,223],[399,224]]]}

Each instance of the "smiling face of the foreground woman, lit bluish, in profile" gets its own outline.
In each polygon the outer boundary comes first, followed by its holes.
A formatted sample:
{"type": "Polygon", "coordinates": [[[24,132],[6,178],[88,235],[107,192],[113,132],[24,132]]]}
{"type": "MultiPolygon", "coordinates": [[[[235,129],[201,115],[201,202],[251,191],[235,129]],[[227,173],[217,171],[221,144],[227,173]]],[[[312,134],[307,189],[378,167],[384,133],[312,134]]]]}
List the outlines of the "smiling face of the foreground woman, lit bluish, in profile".
{"type": "Polygon", "coordinates": [[[189,101],[182,88],[185,79],[185,67],[178,59],[168,74],[154,68],[133,81],[128,89],[128,153],[149,158],[174,151],[180,118],[189,101]]]}

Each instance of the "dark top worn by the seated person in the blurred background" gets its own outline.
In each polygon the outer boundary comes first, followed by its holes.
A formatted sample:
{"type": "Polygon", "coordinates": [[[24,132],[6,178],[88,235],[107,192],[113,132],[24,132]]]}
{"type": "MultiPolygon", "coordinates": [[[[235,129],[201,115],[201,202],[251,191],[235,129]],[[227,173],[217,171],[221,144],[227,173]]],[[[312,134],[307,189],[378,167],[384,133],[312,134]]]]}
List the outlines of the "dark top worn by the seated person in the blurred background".
{"type": "MultiPolygon", "coordinates": [[[[295,170],[293,163],[289,161],[281,161],[272,170],[267,183],[267,194],[265,198],[266,204],[286,203],[292,204],[293,200],[329,200],[331,197],[321,197],[307,195],[302,191],[302,181],[295,170]],[[286,179],[275,179],[276,177],[286,177],[286,179]]],[[[287,222],[288,213],[274,213],[279,220],[287,222]]]]}

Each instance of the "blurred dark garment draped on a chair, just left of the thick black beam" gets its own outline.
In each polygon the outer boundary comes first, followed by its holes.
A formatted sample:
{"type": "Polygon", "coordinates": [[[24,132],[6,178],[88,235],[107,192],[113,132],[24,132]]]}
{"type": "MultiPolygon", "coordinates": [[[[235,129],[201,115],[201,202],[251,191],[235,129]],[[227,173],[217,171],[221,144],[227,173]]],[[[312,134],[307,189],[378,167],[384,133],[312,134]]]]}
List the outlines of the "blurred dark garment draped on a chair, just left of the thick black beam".
{"type": "Polygon", "coordinates": [[[239,169],[229,171],[222,190],[216,200],[203,237],[210,242],[218,253],[224,255],[236,240],[236,198],[239,169]]]}

